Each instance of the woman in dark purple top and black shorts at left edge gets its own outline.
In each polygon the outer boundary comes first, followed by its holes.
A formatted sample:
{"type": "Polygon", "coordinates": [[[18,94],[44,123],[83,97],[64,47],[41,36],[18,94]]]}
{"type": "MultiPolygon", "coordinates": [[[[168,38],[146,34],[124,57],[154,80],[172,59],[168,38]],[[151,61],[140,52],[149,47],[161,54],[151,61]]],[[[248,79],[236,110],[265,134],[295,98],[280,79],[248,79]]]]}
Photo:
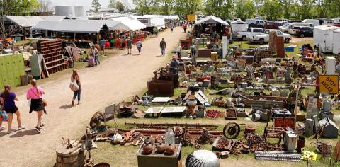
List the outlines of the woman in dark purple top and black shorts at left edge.
{"type": "Polygon", "coordinates": [[[1,93],[0,101],[1,101],[1,104],[4,104],[3,109],[8,114],[7,134],[10,134],[12,132],[16,132],[16,130],[12,129],[13,114],[16,115],[16,120],[18,121],[18,130],[25,129],[25,126],[21,125],[20,111],[18,107],[16,107],[15,101],[18,101],[18,98],[16,98],[16,93],[11,91],[11,86],[9,85],[4,86],[4,88],[5,90],[3,93],[1,93]]]}

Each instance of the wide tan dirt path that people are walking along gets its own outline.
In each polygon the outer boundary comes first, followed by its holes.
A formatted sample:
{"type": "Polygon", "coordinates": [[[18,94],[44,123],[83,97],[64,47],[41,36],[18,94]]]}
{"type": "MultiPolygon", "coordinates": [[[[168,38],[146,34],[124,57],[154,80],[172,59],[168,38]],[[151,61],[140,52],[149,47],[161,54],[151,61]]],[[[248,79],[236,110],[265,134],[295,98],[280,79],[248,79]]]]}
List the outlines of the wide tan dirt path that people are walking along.
{"type": "MultiPolygon", "coordinates": [[[[36,114],[28,114],[26,95],[19,94],[17,105],[27,127],[13,134],[0,132],[0,166],[50,166],[55,159],[55,146],[62,137],[72,138],[83,133],[94,112],[140,93],[147,87],[152,71],[163,67],[170,59],[169,56],[159,57],[159,41],[162,38],[168,46],[166,52],[171,52],[183,35],[181,28],[175,28],[174,33],[166,30],[158,38],[143,42],[142,56],[127,56],[124,55],[126,50],[121,50],[99,67],[80,69],[83,85],[81,105],[70,105],[73,95],[69,90],[70,74],[40,85],[47,93],[45,99],[49,104],[48,113],[43,117],[46,127],[41,134],[33,129],[36,114]]],[[[136,48],[133,48],[132,54],[137,54],[136,48]]],[[[16,120],[13,127],[17,127],[16,120]]]]}

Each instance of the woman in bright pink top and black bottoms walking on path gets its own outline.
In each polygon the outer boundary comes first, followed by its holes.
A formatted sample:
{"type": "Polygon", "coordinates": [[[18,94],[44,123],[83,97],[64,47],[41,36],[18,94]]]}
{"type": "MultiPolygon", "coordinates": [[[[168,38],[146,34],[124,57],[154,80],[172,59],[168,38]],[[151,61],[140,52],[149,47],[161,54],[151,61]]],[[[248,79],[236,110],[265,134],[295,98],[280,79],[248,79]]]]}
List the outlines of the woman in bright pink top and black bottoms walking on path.
{"type": "Polygon", "coordinates": [[[37,112],[38,122],[35,131],[41,133],[40,129],[45,126],[42,124],[42,115],[43,113],[46,113],[44,102],[42,101],[42,95],[45,94],[45,92],[42,88],[37,86],[37,81],[35,81],[35,79],[32,79],[30,84],[32,85],[32,88],[27,91],[27,100],[30,100],[30,113],[32,113],[32,111],[37,112]]]}

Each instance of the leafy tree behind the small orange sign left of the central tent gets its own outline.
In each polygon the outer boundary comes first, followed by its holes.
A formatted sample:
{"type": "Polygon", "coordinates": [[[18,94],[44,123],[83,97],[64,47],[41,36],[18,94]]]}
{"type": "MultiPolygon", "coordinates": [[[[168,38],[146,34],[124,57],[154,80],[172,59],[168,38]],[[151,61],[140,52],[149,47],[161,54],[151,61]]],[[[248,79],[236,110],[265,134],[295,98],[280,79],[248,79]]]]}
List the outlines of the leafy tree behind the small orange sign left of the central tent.
{"type": "Polygon", "coordinates": [[[185,18],[188,14],[195,14],[202,8],[201,0],[176,0],[175,12],[185,18]]]}

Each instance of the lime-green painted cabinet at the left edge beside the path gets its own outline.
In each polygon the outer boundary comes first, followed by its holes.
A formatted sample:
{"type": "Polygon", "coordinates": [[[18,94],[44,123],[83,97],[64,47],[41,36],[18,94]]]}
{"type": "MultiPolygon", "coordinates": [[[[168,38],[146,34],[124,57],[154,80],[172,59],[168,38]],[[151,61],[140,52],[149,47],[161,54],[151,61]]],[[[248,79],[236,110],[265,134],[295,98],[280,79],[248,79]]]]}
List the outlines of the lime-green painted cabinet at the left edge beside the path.
{"type": "Polygon", "coordinates": [[[23,54],[0,54],[0,90],[7,84],[21,86],[23,75],[26,75],[23,54]]]}

